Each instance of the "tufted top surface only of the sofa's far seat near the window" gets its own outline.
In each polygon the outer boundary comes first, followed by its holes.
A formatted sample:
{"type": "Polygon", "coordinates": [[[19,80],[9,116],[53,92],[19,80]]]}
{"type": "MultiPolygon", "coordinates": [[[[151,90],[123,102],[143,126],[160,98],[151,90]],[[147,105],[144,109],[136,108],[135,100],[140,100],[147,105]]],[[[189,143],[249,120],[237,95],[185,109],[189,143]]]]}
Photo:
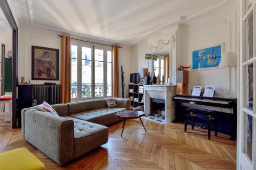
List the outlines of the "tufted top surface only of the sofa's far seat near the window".
{"type": "Polygon", "coordinates": [[[90,120],[93,119],[93,118],[102,117],[102,116],[109,115],[109,114],[112,114],[112,113],[120,112],[120,111],[125,110],[125,109],[126,108],[120,108],[120,107],[115,107],[115,108],[107,108],[106,107],[106,108],[101,108],[101,109],[95,109],[95,110],[76,113],[76,114],[72,114],[70,116],[90,122],[90,120]]]}

